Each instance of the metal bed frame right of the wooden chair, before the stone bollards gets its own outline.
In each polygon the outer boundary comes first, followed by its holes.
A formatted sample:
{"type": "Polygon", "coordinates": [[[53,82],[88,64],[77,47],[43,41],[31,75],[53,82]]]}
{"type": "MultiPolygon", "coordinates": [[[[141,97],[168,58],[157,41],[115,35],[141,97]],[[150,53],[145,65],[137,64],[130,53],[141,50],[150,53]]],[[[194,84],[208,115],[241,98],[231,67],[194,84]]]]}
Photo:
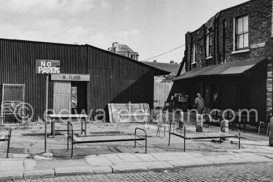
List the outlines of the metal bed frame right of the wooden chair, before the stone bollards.
{"type": "MultiPolygon", "coordinates": [[[[184,152],[186,150],[186,140],[235,137],[235,138],[239,138],[239,149],[240,149],[241,138],[242,138],[240,130],[238,128],[228,127],[228,126],[222,126],[220,131],[205,131],[205,132],[188,132],[188,133],[186,133],[185,123],[183,121],[177,121],[177,120],[171,120],[171,122],[170,122],[169,145],[168,146],[170,146],[171,134],[175,135],[175,136],[179,136],[184,139],[184,152]],[[174,128],[175,122],[177,123],[176,132],[175,132],[175,128],[174,128]],[[173,127],[172,127],[172,123],[173,123],[173,127]],[[183,124],[184,129],[182,127],[179,127],[179,126],[182,126],[182,124],[183,124]],[[222,132],[223,127],[237,129],[239,132],[239,135],[224,133],[224,132],[222,132]],[[179,130],[180,130],[180,132],[178,132],[179,130]],[[182,133],[182,130],[184,130],[184,134],[182,133]]],[[[220,140],[220,144],[221,144],[221,140],[220,140]]]]}

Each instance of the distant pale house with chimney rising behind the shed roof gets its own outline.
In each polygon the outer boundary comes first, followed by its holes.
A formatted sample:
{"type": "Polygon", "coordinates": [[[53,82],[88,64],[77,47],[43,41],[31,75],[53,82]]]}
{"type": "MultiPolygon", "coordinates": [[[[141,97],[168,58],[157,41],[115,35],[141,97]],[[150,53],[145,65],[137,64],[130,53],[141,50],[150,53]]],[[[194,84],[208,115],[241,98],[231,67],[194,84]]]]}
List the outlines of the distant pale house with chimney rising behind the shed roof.
{"type": "Polygon", "coordinates": [[[112,44],[112,48],[108,48],[108,51],[138,61],[138,53],[134,52],[127,45],[122,45],[118,42],[114,42],[112,44]]]}

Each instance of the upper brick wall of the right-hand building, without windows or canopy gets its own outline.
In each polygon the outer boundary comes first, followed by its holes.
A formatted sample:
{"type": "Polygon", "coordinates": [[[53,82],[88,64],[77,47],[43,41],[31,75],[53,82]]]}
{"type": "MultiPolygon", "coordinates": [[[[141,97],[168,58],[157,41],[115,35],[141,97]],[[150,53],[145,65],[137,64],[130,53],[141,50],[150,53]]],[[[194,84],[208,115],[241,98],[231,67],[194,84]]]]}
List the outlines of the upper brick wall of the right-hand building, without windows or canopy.
{"type": "Polygon", "coordinates": [[[250,0],[245,3],[215,13],[199,29],[186,34],[187,68],[192,70],[209,64],[228,61],[267,57],[267,115],[273,114],[273,1],[250,0]],[[249,51],[238,53],[235,49],[235,18],[248,14],[249,51]],[[212,58],[206,60],[205,34],[211,32],[212,58]],[[196,64],[191,64],[193,44],[197,43],[196,64]],[[265,46],[253,48],[254,44],[265,43],[265,46]],[[233,53],[233,54],[232,54],[233,53]]]}

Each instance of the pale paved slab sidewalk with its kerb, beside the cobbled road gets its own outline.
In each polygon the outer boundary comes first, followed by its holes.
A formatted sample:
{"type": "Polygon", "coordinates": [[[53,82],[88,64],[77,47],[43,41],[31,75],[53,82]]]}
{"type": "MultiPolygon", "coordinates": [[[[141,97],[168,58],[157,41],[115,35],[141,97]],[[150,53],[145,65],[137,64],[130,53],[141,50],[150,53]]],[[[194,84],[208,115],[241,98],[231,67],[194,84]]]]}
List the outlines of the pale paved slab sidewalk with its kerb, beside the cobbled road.
{"type": "MultiPolygon", "coordinates": [[[[255,143],[251,144],[255,145],[255,143]]],[[[216,155],[202,155],[197,152],[167,152],[101,154],[71,160],[1,159],[0,181],[273,162],[273,147],[262,146],[229,150],[216,155]]]]}

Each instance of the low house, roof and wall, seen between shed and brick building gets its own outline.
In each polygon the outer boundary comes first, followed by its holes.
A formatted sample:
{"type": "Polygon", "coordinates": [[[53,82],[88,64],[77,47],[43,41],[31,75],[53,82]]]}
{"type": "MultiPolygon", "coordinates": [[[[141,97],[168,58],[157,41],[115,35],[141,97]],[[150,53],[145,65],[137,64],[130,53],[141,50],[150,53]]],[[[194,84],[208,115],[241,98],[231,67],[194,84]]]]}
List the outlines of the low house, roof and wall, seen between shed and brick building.
{"type": "MultiPolygon", "coordinates": [[[[170,63],[157,62],[156,60],[154,60],[153,62],[145,62],[145,61],[142,61],[142,62],[149,66],[170,72],[167,75],[155,76],[154,77],[155,83],[171,83],[172,79],[175,78],[175,76],[177,75],[179,67],[181,65],[180,63],[179,64],[174,63],[174,61],[170,61],[170,63]]],[[[183,74],[184,72],[185,72],[185,68],[184,70],[181,71],[181,74],[183,74]]]]}

